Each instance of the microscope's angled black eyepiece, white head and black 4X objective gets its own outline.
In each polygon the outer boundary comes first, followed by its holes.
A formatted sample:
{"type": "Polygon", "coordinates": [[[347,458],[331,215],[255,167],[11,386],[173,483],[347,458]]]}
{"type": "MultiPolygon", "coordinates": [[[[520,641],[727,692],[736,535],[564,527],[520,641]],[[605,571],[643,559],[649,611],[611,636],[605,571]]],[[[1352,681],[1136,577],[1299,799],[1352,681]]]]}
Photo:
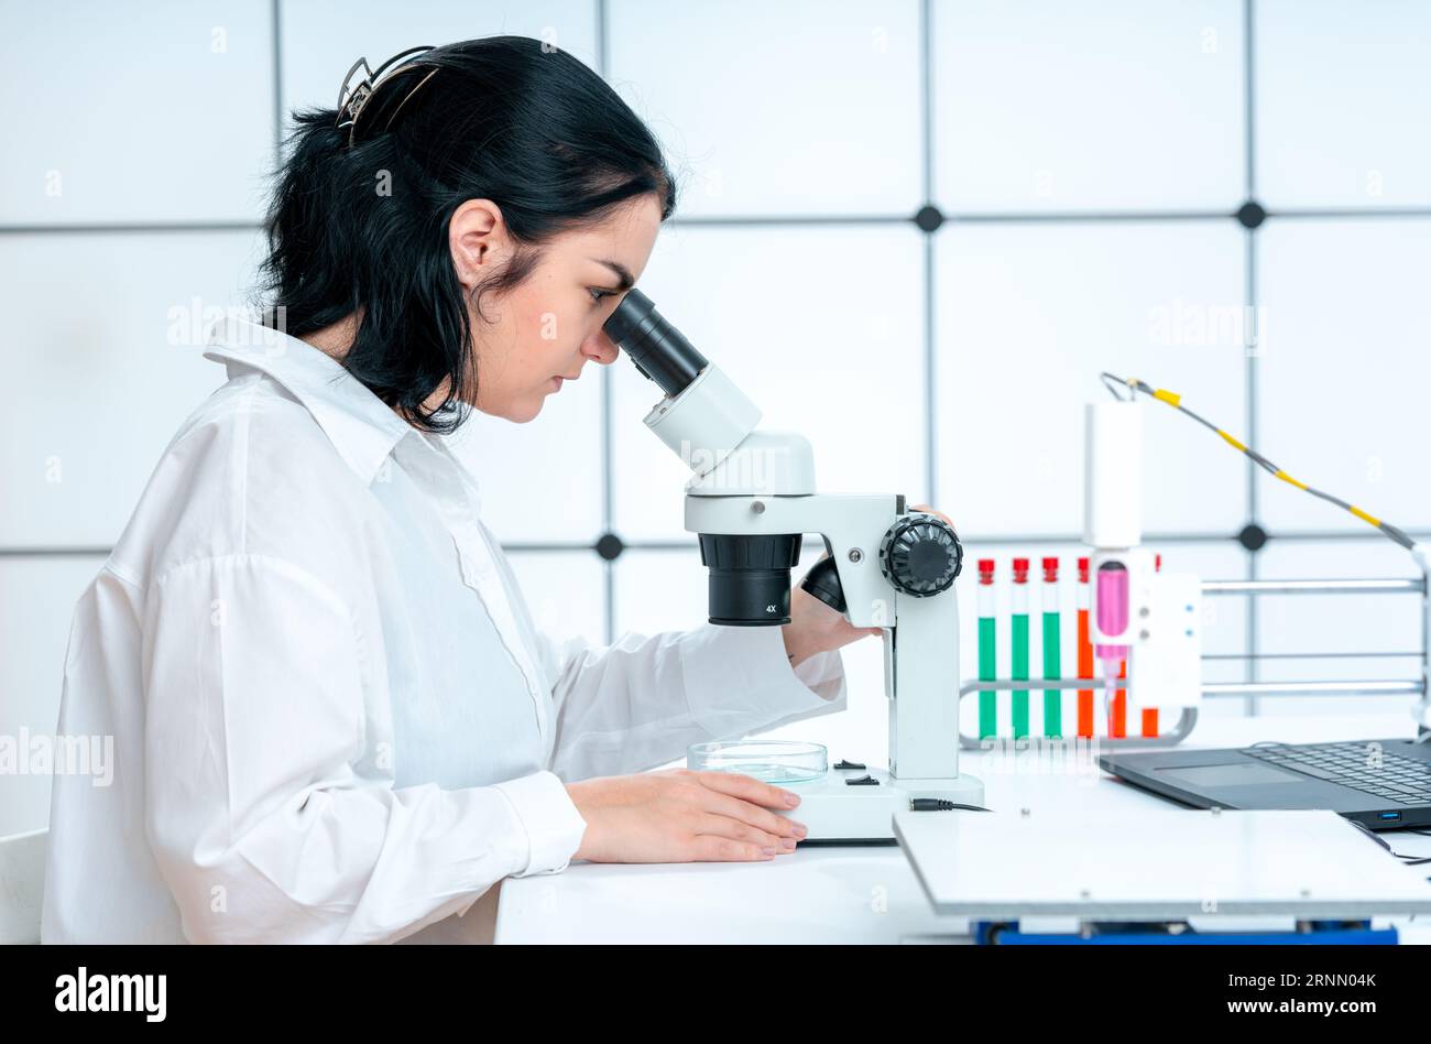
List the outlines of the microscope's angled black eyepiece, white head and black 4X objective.
{"type": "MultiPolygon", "coordinates": [[[[814,493],[810,445],[798,435],[756,432],[760,410],[673,327],[641,291],[627,291],[602,327],[664,398],[645,425],[694,473],[703,497],[814,493]]],[[[731,627],[790,623],[790,570],[800,533],[700,533],[710,569],[710,622],[731,627]]],[[[736,528],[736,527],[730,527],[736,528]]]]}

